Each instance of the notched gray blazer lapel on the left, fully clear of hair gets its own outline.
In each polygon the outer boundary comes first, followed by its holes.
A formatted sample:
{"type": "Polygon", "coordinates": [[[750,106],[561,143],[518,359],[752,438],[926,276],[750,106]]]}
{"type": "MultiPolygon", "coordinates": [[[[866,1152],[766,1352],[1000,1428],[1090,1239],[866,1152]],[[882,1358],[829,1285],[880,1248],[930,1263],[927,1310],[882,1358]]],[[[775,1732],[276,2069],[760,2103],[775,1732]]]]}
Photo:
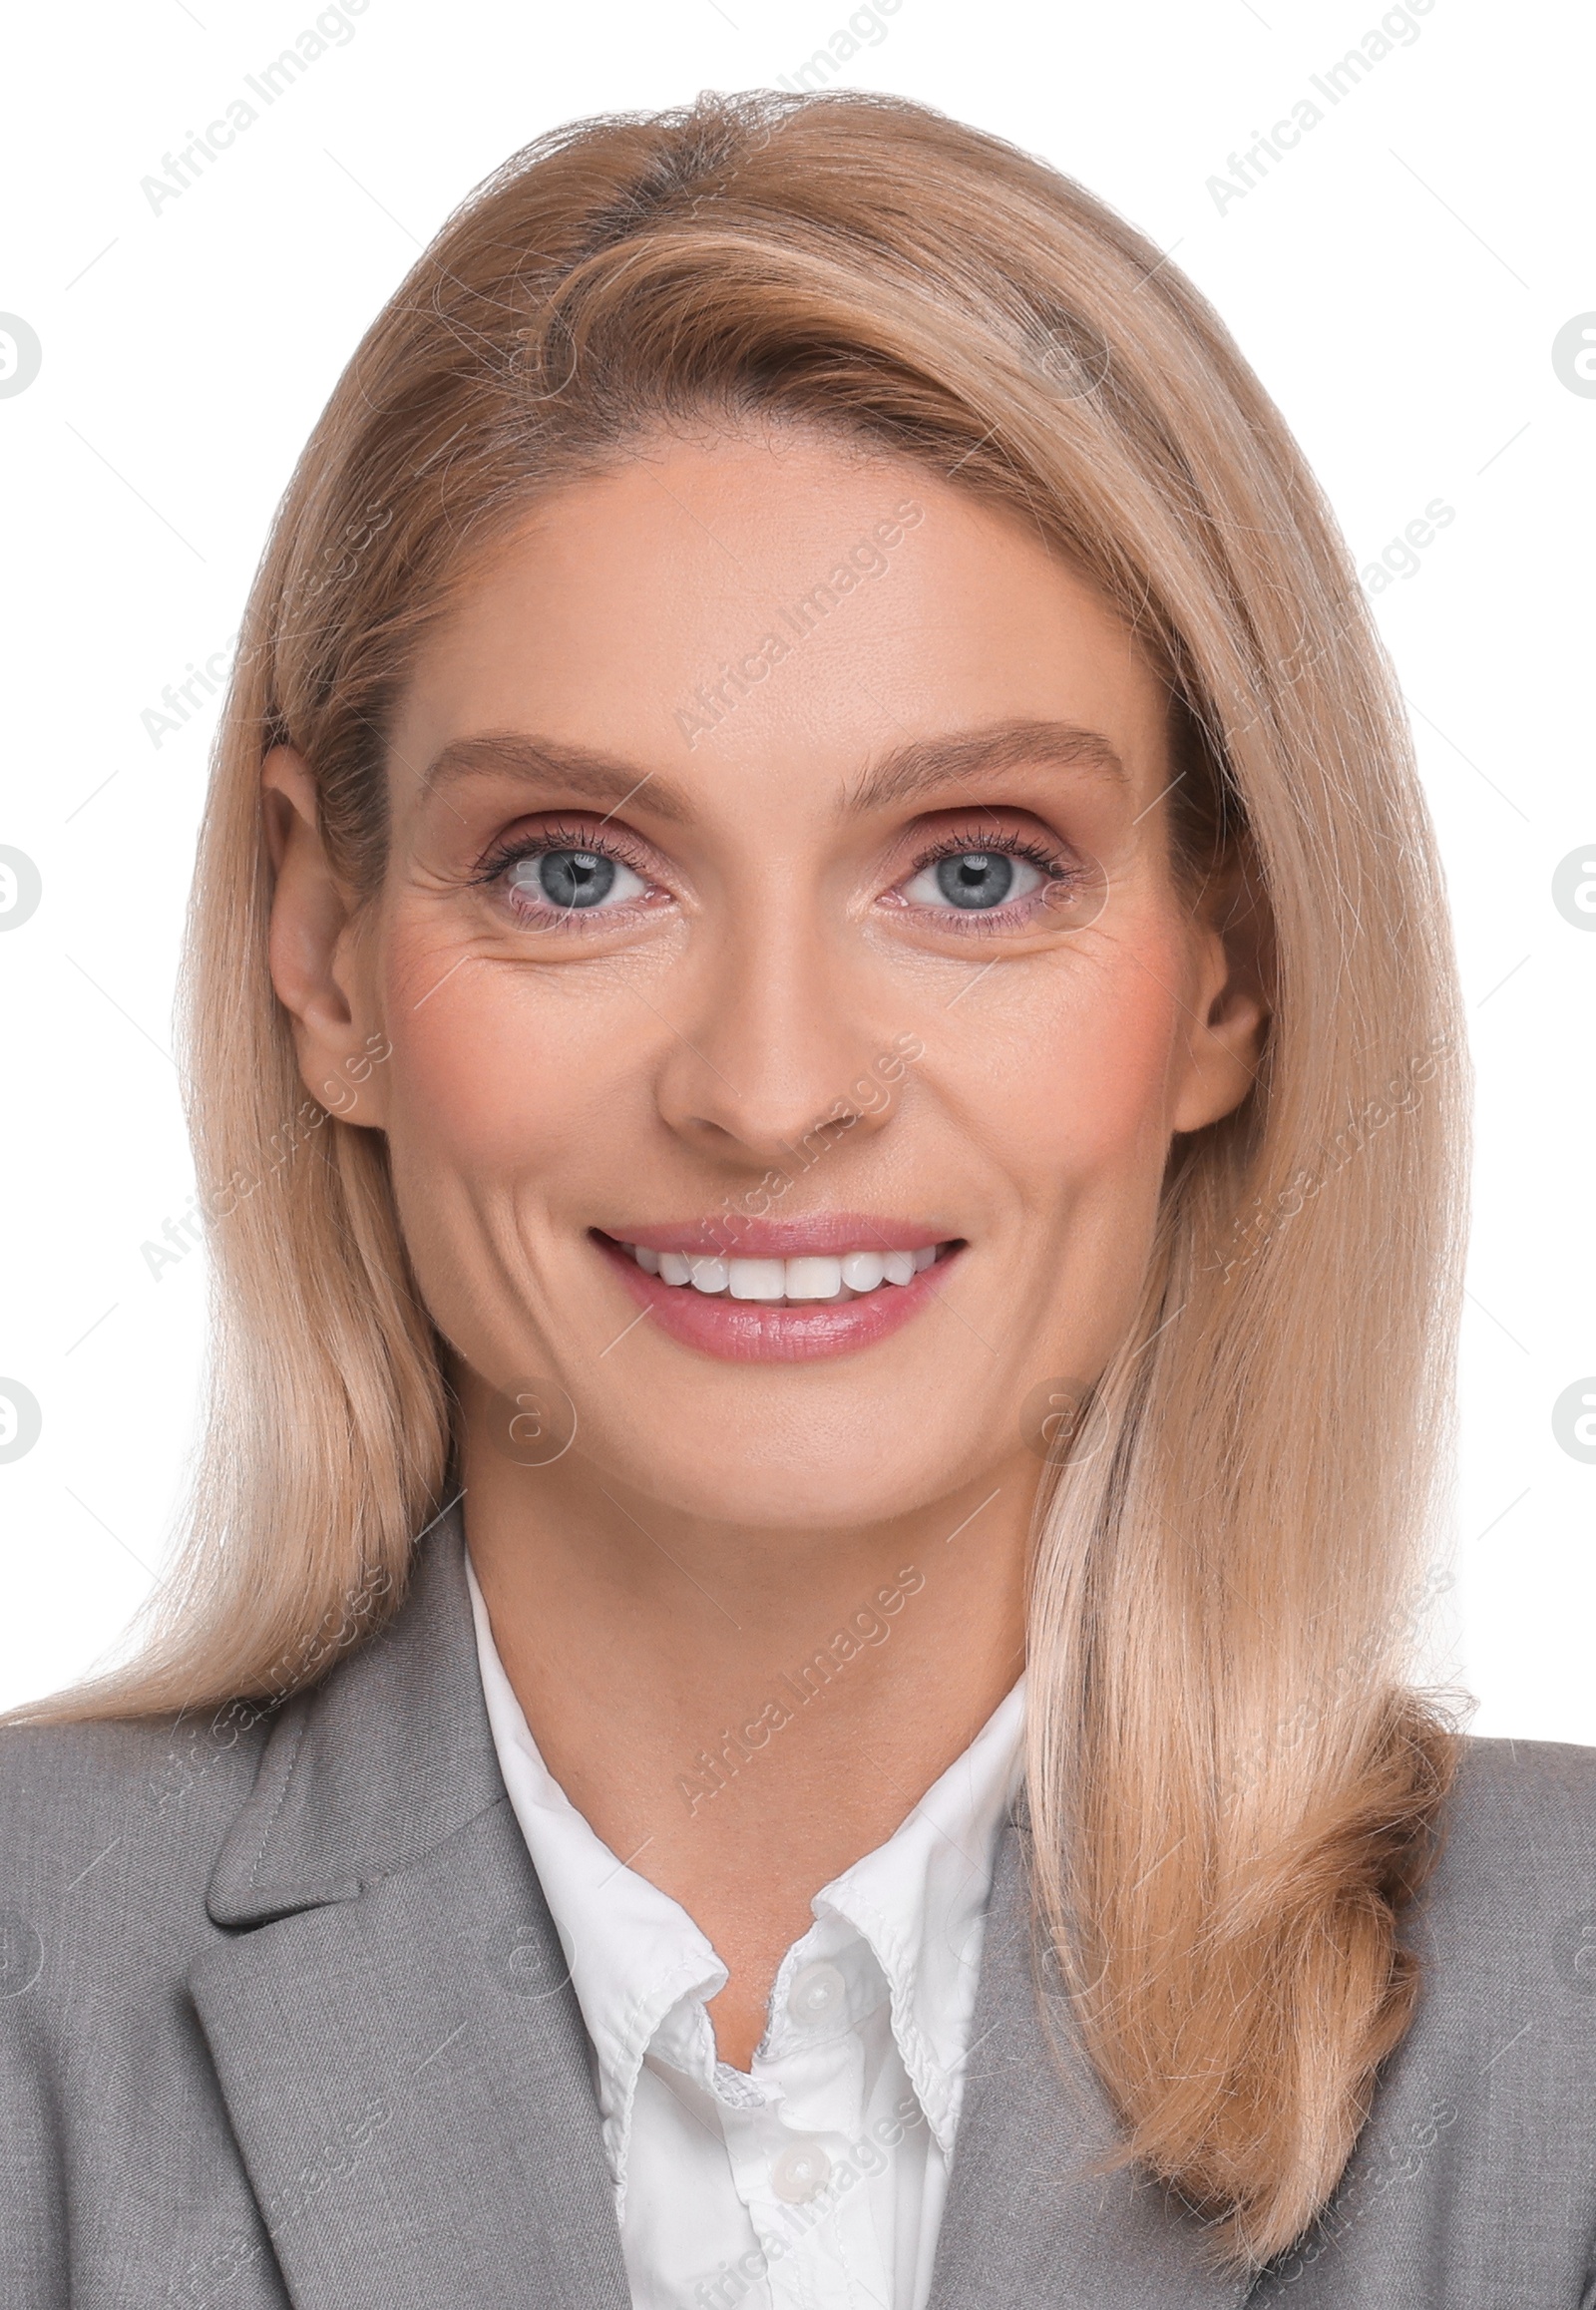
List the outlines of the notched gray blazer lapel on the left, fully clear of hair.
{"type": "MultiPolygon", "coordinates": [[[[510,1813],[457,1515],[270,1732],[189,1975],[296,2310],[626,2310],[587,2033],[510,1813]]],[[[243,2252],[243,2248],[240,2248],[243,2252]]]]}

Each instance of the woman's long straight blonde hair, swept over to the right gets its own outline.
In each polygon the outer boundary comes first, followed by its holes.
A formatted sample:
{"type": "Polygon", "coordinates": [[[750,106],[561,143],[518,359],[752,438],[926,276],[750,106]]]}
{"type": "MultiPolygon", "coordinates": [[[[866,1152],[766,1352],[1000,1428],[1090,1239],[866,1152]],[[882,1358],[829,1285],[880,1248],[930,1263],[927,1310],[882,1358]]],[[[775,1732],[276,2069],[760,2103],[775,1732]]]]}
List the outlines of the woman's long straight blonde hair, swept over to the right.
{"type": "MultiPolygon", "coordinates": [[[[1397,1945],[1453,1735],[1404,1689],[1462,1236],[1434,843],[1353,568],[1189,282],[1081,187],[887,97],[561,129],[443,229],[340,381],[249,598],[189,945],[217,1356],[185,1548],[129,1666],[32,1712],[275,1696],[390,1612],[450,1402],[379,1132],[298,1079],[261,758],[383,871],[418,635],[552,478],[651,425],[848,430],[1014,506],[1178,714],[1180,859],[1268,915],[1259,1083],[1171,1160],[1139,1319],[1049,1481],[1032,1883],[1127,2155],[1259,2261],[1312,2220],[1414,2007],[1397,1945]]],[[[381,1065],[381,1051],[372,1051],[381,1065]]]]}

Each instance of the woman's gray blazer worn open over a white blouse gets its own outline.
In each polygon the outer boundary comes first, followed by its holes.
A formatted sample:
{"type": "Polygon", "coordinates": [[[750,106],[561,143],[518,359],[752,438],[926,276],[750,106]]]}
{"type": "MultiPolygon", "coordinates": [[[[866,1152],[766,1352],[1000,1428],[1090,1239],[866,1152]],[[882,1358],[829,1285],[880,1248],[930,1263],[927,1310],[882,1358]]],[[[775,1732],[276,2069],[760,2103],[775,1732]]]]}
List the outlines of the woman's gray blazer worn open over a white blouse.
{"type": "MultiPolygon", "coordinates": [[[[1418,2019],[1254,2287],[1037,2024],[1005,1832],[933,2310],[1596,2310],[1596,1751],[1474,1742],[1418,2019]]],[[[626,2310],[457,1518],[316,1691],[0,1742],[0,2301],[626,2310]]]]}

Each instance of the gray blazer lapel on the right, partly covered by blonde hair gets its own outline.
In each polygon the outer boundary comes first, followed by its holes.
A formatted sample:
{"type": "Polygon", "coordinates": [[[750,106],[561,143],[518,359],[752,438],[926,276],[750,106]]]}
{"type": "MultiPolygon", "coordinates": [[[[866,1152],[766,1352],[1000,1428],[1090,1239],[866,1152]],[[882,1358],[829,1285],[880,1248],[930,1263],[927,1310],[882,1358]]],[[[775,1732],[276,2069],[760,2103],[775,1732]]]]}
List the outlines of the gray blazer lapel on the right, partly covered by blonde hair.
{"type": "Polygon", "coordinates": [[[1238,2310],[1252,2280],[1213,2266],[1201,2222],[1134,2167],[1102,2169],[1120,2128],[1090,2065],[1049,2051],[1023,1846],[1009,1825],[928,2310],[1238,2310]]]}

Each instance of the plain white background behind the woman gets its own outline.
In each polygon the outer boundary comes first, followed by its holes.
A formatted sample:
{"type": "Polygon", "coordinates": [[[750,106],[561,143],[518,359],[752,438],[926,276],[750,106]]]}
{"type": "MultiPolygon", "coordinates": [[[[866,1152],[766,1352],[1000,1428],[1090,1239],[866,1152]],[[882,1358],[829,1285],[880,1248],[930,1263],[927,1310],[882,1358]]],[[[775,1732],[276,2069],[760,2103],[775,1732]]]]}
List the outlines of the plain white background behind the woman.
{"type": "MultiPolygon", "coordinates": [[[[210,714],[141,714],[238,626],[277,494],[356,337],[446,213],[573,116],[769,85],[845,0],[370,0],[159,215],[162,155],[245,92],[312,0],[30,9],[9,72],[0,310],[39,335],[0,400],[0,843],[44,878],[0,936],[0,1377],[44,1409],[0,1465],[0,1705],[113,1642],[194,1437],[203,1252],[150,1273],[192,1194],[171,998],[210,714]]],[[[1552,1404],[1596,1372],[1596,933],[1552,871],[1596,857],[1587,582],[1596,400],[1552,340],[1596,310],[1591,23],[1432,0],[1337,106],[1312,88],[1374,0],[901,0],[841,67],[1046,155],[1217,303],[1363,566],[1455,520],[1377,614],[1441,829],[1478,1067],[1453,1672],[1476,1728],[1596,1742],[1596,1465],[1552,1404]],[[1208,178],[1326,118],[1217,208],[1208,178]]],[[[1596,915],[1589,917],[1596,924],[1596,915]]],[[[1591,1381],[1596,1388],[1596,1379],[1591,1381]]]]}

